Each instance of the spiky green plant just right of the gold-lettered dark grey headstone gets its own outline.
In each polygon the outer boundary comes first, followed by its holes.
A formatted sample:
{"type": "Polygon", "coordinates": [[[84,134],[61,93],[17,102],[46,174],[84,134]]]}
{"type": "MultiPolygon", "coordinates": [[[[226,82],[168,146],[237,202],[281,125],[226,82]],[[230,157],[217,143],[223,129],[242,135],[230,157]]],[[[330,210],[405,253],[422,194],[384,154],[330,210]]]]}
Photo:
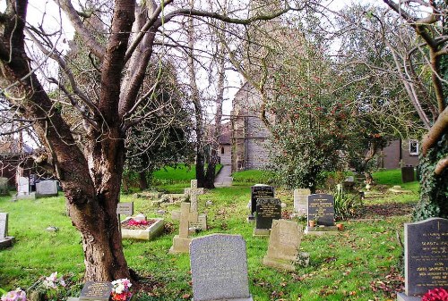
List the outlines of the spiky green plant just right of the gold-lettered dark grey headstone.
{"type": "Polygon", "coordinates": [[[364,204],[359,194],[349,194],[339,184],[334,196],[334,218],[338,221],[359,217],[363,213],[364,204]]]}

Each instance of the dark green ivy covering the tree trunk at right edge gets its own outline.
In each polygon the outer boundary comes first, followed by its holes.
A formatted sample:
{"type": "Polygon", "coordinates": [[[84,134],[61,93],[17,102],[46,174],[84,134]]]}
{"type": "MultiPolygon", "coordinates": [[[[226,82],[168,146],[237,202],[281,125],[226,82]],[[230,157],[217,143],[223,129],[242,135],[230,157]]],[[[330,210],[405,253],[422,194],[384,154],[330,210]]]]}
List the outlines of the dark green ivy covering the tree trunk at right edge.
{"type": "Polygon", "coordinates": [[[429,217],[448,218],[448,169],[435,175],[435,165],[448,155],[448,135],[431,149],[420,155],[420,200],[413,214],[414,221],[429,217]]]}

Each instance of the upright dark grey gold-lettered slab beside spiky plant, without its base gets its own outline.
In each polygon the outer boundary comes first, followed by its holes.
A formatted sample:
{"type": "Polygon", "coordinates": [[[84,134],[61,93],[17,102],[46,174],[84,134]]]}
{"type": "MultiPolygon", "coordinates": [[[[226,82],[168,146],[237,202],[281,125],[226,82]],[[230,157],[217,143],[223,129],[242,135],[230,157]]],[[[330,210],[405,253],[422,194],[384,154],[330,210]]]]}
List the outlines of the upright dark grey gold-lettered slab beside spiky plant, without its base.
{"type": "Polygon", "coordinates": [[[334,197],[332,195],[314,194],[308,196],[308,221],[318,217],[318,224],[334,226],[334,197]]]}

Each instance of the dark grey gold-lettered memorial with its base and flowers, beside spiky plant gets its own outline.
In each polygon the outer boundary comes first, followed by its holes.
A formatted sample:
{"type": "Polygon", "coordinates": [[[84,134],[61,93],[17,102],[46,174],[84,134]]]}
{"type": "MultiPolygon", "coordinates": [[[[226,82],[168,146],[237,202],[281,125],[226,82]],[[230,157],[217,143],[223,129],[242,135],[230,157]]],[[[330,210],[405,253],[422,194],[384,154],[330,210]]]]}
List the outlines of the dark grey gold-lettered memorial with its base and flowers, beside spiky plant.
{"type": "Polygon", "coordinates": [[[338,230],[334,224],[334,197],[326,194],[308,196],[306,234],[322,235],[338,230]],[[315,225],[312,226],[312,222],[315,225]]]}

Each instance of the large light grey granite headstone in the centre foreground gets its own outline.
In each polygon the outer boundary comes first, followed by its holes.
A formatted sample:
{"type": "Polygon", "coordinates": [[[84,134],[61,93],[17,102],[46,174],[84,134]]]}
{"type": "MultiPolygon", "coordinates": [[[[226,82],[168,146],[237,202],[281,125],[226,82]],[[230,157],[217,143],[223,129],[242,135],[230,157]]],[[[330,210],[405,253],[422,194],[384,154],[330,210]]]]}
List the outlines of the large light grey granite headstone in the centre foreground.
{"type": "Polygon", "coordinates": [[[190,244],[194,301],[253,301],[246,242],[240,235],[211,234],[190,244]]]}

